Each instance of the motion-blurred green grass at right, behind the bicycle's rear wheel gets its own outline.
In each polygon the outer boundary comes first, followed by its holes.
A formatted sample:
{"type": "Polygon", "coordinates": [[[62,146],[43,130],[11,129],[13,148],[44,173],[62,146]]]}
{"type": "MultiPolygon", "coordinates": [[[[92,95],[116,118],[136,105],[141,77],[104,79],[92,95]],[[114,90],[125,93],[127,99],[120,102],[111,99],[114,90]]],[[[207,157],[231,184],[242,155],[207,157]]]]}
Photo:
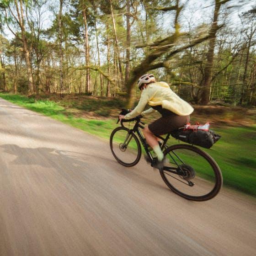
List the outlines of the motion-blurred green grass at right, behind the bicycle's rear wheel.
{"type": "Polygon", "coordinates": [[[218,128],[222,138],[206,149],[222,170],[224,185],[256,195],[256,126],[218,128]]]}

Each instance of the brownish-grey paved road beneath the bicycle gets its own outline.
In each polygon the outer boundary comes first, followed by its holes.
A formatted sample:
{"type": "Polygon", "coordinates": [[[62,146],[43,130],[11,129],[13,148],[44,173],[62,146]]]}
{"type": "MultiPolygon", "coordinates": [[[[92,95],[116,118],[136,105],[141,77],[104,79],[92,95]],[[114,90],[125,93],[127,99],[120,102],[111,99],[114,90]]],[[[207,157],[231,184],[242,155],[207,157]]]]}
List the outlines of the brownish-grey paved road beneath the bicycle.
{"type": "Polygon", "coordinates": [[[144,160],[0,99],[0,256],[256,255],[256,201],[187,201],[144,160]]]}

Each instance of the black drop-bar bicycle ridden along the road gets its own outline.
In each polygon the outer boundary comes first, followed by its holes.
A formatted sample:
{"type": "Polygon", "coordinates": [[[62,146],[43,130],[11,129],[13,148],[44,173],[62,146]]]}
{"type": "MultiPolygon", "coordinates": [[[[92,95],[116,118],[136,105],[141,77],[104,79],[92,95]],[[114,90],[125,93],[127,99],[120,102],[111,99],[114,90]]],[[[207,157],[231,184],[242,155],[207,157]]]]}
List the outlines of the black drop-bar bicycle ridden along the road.
{"type": "MultiPolygon", "coordinates": [[[[150,152],[152,149],[147,145],[140,131],[140,129],[144,129],[145,125],[140,119],[140,116],[128,120],[122,119],[121,126],[115,128],[111,133],[111,152],[117,162],[123,166],[131,167],[138,164],[142,154],[140,142],[151,166],[155,166],[156,158],[150,152]],[[130,123],[133,121],[135,121],[133,128],[123,125],[123,123],[129,122],[130,127],[130,123]]],[[[169,163],[159,170],[165,184],[171,191],[188,200],[206,201],[215,197],[223,183],[218,164],[210,155],[193,145],[167,146],[166,143],[170,136],[171,133],[168,133],[165,138],[157,136],[163,141],[160,147],[169,160],[169,163]]]]}

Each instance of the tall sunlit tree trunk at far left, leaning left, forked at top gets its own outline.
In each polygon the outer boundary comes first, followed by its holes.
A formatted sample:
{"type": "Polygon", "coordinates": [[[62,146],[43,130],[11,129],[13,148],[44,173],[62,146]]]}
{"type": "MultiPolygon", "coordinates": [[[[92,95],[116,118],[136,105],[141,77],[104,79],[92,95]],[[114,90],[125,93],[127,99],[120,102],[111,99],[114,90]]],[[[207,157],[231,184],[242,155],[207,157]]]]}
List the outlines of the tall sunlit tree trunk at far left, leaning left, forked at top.
{"type": "Polygon", "coordinates": [[[28,93],[33,94],[34,93],[34,83],[33,83],[33,76],[32,76],[32,66],[29,58],[29,50],[27,46],[27,37],[26,37],[26,31],[24,26],[24,19],[23,19],[23,6],[22,6],[22,0],[20,0],[20,7],[21,11],[19,10],[17,0],[14,0],[16,11],[19,19],[19,26],[21,27],[21,36],[22,36],[22,43],[23,43],[23,50],[25,55],[25,61],[27,66],[27,78],[28,78],[28,93]]]}

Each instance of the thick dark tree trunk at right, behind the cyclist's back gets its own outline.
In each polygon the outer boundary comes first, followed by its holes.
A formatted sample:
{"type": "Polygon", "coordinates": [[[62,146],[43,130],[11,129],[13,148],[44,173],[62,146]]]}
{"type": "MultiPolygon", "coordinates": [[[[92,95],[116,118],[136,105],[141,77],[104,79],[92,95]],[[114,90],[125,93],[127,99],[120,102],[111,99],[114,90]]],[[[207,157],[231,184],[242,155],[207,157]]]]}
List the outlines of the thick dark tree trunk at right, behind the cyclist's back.
{"type": "Polygon", "coordinates": [[[204,80],[203,80],[203,91],[201,94],[201,104],[207,105],[209,103],[210,96],[210,86],[211,86],[211,73],[213,69],[213,55],[214,55],[214,47],[216,41],[216,32],[218,30],[218,16],[219,16],[219,8],[220,8],[219,0],[215,0],[215,8],[213,15],[213,24],[210,30],[211,38],[209,39],[209,49],[207,53],[207,64],[204,69],[204,80]]]}

